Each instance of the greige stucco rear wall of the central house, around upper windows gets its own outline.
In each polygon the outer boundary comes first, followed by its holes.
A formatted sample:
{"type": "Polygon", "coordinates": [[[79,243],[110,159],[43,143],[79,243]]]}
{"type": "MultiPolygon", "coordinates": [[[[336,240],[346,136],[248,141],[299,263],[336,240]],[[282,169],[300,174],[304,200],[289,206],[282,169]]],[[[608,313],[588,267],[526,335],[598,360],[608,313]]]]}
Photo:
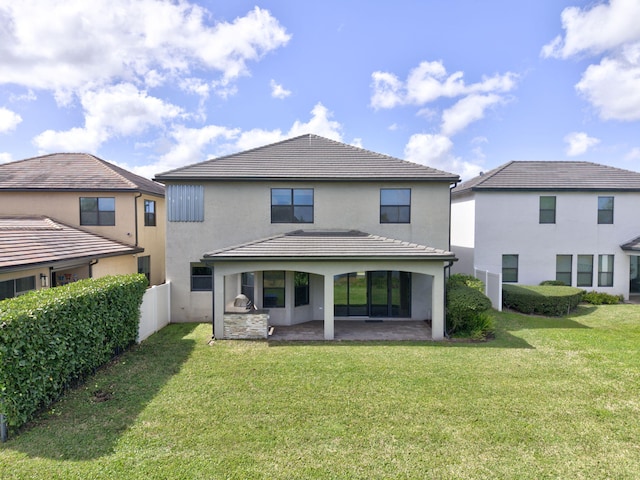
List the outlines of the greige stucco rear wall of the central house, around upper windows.
{"type": "Polygon", "coordinates": [[[211,321],[211,294],[190,291],[189,263],[219,248],[299,229],[355,229],[449,249],[447,182],[212,182],[205,185],[204,216],[204,222],[167,223],[174,322],[211,321]],[[271,188],[313,188],[314,223],[272,224],[271,188]],[[411,188],[410,224],[380,223],[381,188],[411,188]]]}

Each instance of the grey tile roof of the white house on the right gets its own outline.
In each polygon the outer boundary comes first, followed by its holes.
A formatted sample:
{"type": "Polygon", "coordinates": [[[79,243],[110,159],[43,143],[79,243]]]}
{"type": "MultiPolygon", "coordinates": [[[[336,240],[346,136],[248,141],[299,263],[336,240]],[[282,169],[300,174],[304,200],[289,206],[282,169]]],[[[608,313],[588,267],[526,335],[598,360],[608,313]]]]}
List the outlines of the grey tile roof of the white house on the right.
{"type": "Polygon", "coordinates": [[[513,161],[458,184],[452,196],[480,190],[640,191],[640,173],[591,162],[513,161]]]}

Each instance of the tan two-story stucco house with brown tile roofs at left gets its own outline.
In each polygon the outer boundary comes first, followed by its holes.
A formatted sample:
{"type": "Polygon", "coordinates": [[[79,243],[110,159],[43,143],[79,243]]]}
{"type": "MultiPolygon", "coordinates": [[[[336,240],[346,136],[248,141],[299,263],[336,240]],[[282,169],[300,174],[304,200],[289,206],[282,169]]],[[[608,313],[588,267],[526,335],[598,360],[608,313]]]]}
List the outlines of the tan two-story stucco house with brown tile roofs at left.
{"type": "Polygon", "coordinates": [[[112,274],[165,281],[164,186],[93,155],[0,165],[0,297],[112,274]]]}

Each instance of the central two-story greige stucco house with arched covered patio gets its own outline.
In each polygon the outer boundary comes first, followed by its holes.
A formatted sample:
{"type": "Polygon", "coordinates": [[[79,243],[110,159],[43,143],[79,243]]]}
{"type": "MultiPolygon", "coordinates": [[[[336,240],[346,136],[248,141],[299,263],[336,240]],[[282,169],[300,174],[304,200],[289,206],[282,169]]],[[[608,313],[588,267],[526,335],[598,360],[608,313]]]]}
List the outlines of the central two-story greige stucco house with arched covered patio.
{"type": "MultiPolygon", "coordinates": [[[[271,325],[431,320],[444,335],[458,176],[303,135],[156,176],[167,186],[172,321],[212,321],[240,293],[271,325]]],[[[392,323],[390,327],[393,328],[392,323]]]]}

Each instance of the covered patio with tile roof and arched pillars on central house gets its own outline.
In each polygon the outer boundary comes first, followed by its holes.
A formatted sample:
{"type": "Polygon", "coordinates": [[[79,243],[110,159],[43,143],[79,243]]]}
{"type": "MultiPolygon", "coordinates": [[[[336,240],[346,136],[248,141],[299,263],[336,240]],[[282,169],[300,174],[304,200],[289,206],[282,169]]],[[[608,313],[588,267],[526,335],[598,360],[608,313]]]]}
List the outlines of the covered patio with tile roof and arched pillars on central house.
{"type": "MultiPolygon", "coordinates": [[[[284,334],[288,331],[290,338],[297,336],[306,340],[442,340],[445,269],[454,260],[453,253],[445,250],[358,231],[295,231],[209,252],[202,258],[202,262],[213,269],[216,338],[225,338],[225,306],[241,293],[240,275],[244,272],[264,274],[282,271],[287,286],[279,308],[266,304],[259,280],[255,288],[255,304],[258,308],[270,310],[270,325],[275,326],[274,332],[284,334]],[[406,272],[412,279],[407,287],[407,292],[411,290],[407,297],[411,306],[404,314],[397,315],[405,318],[373,318],[378,316],[377,312],[365,312],[364,315],[356,312],[359,318],[346,319],[336,314],[334,282],[337,277],[350,272],[384,274],[396,271],[406,272]],[[312,300],[304,307],[295,306],[292,300],[294,272],[310,275],[312,300]],[[431,321],[428,330],[424,322],[427,319],[431,321]],[[418,330],[418,326],[422,330],[418,330]]],[[[261,278],[260,275],[257,277],[261,278]]]]}

